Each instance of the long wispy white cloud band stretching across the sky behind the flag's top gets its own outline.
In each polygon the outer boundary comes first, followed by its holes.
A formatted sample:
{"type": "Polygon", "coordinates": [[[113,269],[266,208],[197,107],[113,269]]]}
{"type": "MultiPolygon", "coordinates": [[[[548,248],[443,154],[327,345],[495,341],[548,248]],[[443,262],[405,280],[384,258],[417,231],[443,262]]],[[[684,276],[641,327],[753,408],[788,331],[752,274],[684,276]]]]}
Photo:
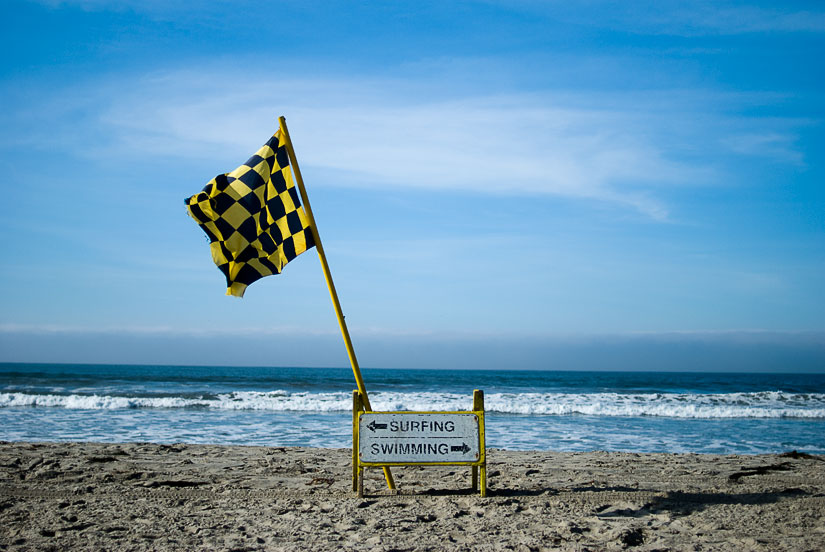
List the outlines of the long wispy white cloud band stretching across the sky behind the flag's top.
{"type": "Polygon", "coordinates": [[[776,134],[758,120],[737,121],[736,135],[724,130],[729,117],[708,92],[445,97],[433,92],[436,78],[276,79],[217,66],[109,78],[56,90],[37,110],[16,110],[29,130],[7,140],[41,141],[29,117],[42,117],[49,142],[62,133],[79,156],[225,159],[218,167],[229,170],[283,113],[302,165],[328,185],[555,195],[655,220],[668,218],[669,188],[722,180],[714,141],[739,154],[767,148],[785,161],[801,159],[787,130],[776,134]]]}

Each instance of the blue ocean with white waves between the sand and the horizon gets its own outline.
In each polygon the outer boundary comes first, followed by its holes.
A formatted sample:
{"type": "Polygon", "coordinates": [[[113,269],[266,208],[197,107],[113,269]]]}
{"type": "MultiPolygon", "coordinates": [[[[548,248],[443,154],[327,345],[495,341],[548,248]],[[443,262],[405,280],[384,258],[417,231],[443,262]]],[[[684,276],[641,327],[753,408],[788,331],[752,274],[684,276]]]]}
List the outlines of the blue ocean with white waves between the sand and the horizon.
{"type": "MultiPolygon", "coordinates": [[[[468,410],[489,448],[825,454],[825,374],[362,370],[374,410],[468,410]]],[[[352,446],[349,368],[0,364],[0,440],[352,446]]]]}

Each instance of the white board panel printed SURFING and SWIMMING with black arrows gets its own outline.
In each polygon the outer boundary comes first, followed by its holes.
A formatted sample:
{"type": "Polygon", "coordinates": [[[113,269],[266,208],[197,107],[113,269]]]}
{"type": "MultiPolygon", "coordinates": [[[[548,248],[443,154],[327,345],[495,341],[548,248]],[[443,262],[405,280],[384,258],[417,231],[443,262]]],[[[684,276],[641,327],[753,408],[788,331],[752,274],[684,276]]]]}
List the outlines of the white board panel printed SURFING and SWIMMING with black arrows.
{"type": "Polygon", "coordinates": [[[364,412],[358,418],[361,462],[476,462],[478,416],[472,413],[364,412]]]}

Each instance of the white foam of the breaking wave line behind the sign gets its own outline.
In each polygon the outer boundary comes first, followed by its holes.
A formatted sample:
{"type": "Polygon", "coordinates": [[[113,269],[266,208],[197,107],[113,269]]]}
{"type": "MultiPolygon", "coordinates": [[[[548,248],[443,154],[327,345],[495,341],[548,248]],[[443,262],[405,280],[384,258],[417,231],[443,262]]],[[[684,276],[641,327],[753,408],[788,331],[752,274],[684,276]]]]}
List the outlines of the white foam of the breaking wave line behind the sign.
{"type": "MultiPolygon", "coordinates": [[[[468,410],[471,399],[454,393],[370,394],[374,410],[468,410]]],[[[667,418],[825,418],[825,394],[780,391],[728,394],[490,393],[487,411],[527,415],[658,416],[667,418]]],[[[214,398],[0,393],[0,408],[68,409],[207,408],[276,412],[340,412],[352,408],[352,395],[236,391],[214,398]]]]}

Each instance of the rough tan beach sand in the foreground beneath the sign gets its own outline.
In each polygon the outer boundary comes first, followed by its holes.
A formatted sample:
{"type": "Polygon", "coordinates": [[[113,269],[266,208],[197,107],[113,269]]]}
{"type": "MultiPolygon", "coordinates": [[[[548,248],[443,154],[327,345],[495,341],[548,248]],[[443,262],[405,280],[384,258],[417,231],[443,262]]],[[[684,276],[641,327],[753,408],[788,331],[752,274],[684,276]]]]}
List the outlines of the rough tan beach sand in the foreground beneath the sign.
{"type": "Polygon", "coordinates": [[[488,450],[379,469],[347,449],[0,443],[2,550],[825,550],[825,457],[488,450]]]}

